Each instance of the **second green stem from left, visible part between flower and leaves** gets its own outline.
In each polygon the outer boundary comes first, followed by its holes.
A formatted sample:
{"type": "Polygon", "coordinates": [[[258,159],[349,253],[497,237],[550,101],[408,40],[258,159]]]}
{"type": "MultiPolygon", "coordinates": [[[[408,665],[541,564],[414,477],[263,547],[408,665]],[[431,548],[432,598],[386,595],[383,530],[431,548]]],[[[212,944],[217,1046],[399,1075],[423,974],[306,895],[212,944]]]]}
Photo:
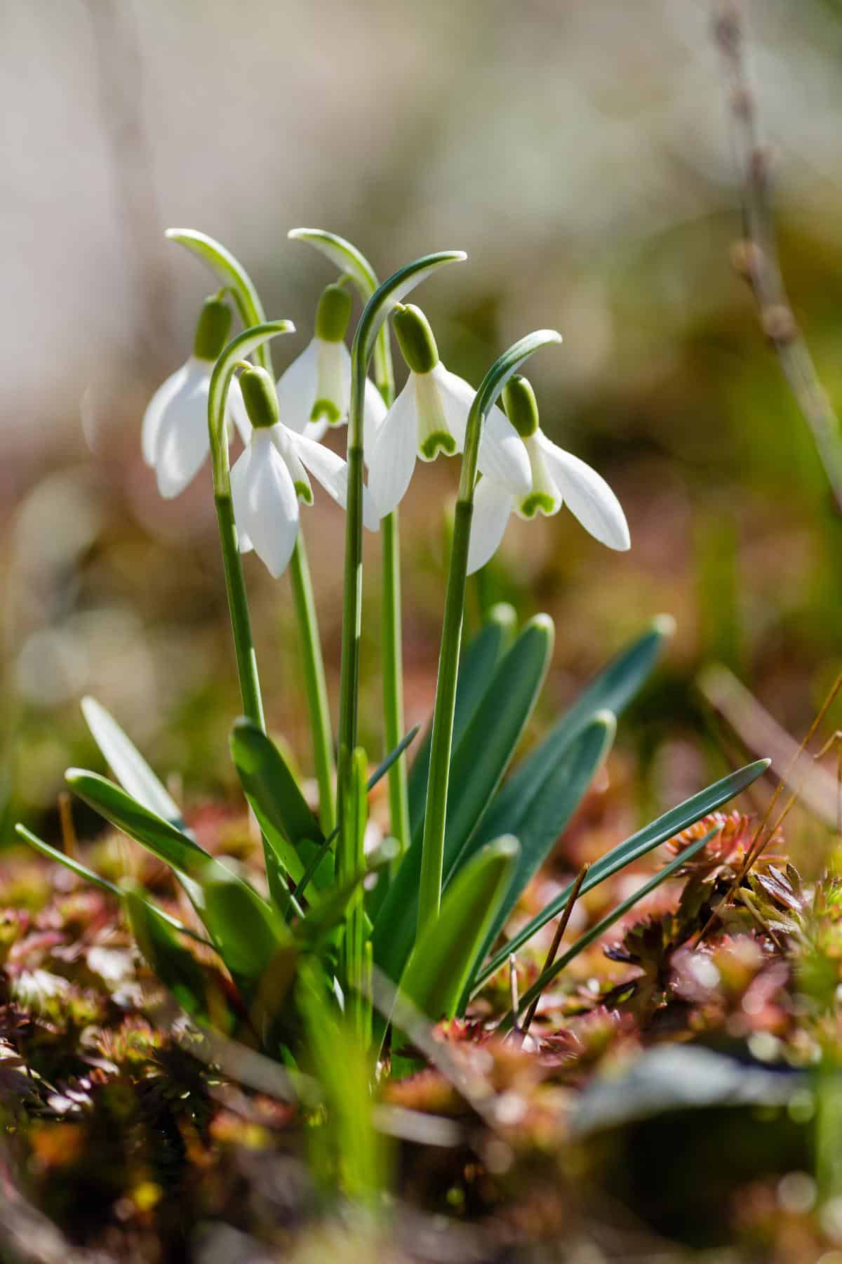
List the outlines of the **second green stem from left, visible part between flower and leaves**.
{"type": "Polygon", "coordinates": [[[318,635],[313,585],[311,583],[304,537],[300,530],[289,564],[289,576],[293,583],[293,599],[295,602],[295,614],[300,632],[304,690],[307,693],[307,705],[309,708],[313,733],[313,761],[316,763],[316,780],[318,781],[319,823],[322,832],[329,834],[336,825],[331,709],[327,700],[324,660],[321,653],[322,640],[318,635]]]}

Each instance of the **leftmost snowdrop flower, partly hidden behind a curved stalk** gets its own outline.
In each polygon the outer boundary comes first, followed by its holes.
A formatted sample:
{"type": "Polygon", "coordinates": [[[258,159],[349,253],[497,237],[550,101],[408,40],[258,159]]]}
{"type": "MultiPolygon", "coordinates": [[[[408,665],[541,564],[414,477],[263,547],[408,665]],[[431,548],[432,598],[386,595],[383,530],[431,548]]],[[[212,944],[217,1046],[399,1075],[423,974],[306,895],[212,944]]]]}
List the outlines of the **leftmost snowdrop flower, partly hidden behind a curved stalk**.
{"type": "MultiPolygon", "coordinates": [[[[196,326],[193,354],[155,391],[144,413],[143,456],[146,465],[155,470],[158,490],[165,501],[183,492],[207,460],[211,450],[207,430],[211,374],[230,330],[228,305],[218,295],[206,298],[196,326]]],[[[249,426],[236,382],[231,383],[228,393],[228,418],[236,421],[246,441],[249,426]]]]}

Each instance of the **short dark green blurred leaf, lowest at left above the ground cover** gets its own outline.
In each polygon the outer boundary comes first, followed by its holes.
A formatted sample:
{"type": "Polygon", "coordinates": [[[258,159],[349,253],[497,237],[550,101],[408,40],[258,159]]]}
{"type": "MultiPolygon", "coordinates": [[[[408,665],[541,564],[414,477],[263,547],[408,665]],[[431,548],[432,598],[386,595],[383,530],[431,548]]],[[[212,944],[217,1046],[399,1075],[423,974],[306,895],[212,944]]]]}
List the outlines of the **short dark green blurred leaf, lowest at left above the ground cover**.
{"type": "Polygon", "coordinates": [[[145,899],[140,887],[125,882],[122,900],[135,937],[146,964],[169,988],[187,1014],[207,1019],[222,1030],[230,1030],[234,1016],[212,972],[202,968],[172,933],[159,910],[145,899]]]}

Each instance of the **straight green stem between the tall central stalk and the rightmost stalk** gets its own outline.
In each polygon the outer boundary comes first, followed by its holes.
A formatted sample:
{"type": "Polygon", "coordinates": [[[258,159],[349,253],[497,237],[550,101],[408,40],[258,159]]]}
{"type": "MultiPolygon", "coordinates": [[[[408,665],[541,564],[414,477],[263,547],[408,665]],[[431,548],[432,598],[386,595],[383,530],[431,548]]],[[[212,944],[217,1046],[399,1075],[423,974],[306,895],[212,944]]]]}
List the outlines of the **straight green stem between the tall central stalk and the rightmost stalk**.
{"type": "MultiPolygon", "coordinates": [[[[386,751],[394,751],[404,734],[404,656],[400,599],[400,525],[398,509],[380,522],[382,533],[382,723],[386,751]]],[[[393,875],[409,847],[409,793],[406,760],[401,756],[389,769],[389,817],[400,851],[393,875]]]]}

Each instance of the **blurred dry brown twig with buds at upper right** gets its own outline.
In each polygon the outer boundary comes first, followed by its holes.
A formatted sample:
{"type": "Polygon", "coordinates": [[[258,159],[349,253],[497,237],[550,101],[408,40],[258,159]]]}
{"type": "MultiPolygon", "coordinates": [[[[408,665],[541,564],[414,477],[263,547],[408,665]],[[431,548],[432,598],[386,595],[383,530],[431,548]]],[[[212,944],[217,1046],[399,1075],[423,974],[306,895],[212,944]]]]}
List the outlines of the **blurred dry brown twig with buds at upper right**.
{"type": "Polygon", "coordinates": [[[746,73],[742,16],[736,0],[721,0],[718,4],[713,37],[726,75],[731,135],[741,186],[744,239],[735,245],[733,264],[751,284],[760,325],[810,428],[837,509],[842,512],[839,422],[819,382],[784,287],[771,214],[770,153],[759,139],[756,99],[746,73]]]}

